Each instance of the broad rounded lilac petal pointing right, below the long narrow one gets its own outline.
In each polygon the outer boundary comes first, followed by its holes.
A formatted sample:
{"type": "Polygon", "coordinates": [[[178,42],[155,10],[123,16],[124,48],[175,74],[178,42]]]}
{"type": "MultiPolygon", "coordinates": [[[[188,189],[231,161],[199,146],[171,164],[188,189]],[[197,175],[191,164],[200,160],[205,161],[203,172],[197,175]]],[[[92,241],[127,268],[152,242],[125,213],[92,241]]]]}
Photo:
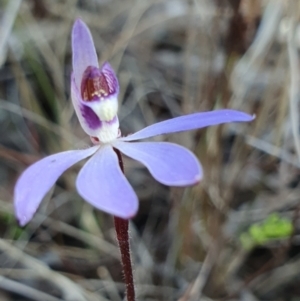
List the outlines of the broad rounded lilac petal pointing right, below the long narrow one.
{"type": "Polygon", "coordinates": [[[198,183],[202,169],[195,155],[188,149],[169,142],[121,142],[114,147],[143,163],[152,176],[168,186],[186,186],[198,183]]]}

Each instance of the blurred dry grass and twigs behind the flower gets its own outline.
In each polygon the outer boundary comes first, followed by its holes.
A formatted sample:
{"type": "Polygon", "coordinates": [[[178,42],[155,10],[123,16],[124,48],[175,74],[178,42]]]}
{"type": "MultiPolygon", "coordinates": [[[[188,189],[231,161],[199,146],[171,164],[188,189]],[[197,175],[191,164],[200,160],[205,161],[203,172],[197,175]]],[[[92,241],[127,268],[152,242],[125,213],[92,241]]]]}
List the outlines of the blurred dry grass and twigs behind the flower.
{"type": "MultiPolygon", "coordinates": [[[[0,299],[124,298],[113,219],[66,172],[20,228],[13,188],[49,154],[90,145],[70,101],[70,33],[91,29],[129,134],[196,111],[256,114],[168,136],[204,168],[169,188],[125,158],[138,300],[300,300],[298,0],[0,1],[0,299]]],[[[45,171],[46,172],[46,171],[45,171]]]]}

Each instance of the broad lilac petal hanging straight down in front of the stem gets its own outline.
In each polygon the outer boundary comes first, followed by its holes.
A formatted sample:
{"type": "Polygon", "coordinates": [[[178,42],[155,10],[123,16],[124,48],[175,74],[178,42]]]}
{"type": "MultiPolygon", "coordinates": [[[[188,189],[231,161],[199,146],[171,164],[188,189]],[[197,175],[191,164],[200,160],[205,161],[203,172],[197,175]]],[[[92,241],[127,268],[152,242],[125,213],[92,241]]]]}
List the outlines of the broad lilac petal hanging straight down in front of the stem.
{"type": "Polygon", "coordinates": [[[124,219],[133,217],[138,199],[122,173],[110,145],[102,146],[81,169],[76,186],[92,206],[124,219]]]}

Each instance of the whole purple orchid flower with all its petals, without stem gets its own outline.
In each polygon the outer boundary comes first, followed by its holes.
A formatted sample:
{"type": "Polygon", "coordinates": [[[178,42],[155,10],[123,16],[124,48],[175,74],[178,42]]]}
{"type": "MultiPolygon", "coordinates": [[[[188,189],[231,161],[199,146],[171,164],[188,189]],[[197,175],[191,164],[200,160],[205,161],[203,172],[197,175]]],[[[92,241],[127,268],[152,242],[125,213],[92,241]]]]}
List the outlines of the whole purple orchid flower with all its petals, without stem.
{"type": "Polygon", "coordinates": [[[72,49],[72,101],[80,124],[94,146],[51,155],[23,172],[14,191],[15,212],[22,226],[33,217],[59,176],[90,156],[77,177],[79,194],[94,207],[129,219],[138,210],[138,199],[120,169],[114,148],[144,164],[162,184],[193,185],[201,180],[202,169],[192,152],[168,142],[133,141],[227,122],[246,122],[254,118],[234,110],[195,113],[159,122],[121,137],[117,116],[118,80],[109,63],[99,68],[91,33],[81,20],[73,26],[72,49]]]}

